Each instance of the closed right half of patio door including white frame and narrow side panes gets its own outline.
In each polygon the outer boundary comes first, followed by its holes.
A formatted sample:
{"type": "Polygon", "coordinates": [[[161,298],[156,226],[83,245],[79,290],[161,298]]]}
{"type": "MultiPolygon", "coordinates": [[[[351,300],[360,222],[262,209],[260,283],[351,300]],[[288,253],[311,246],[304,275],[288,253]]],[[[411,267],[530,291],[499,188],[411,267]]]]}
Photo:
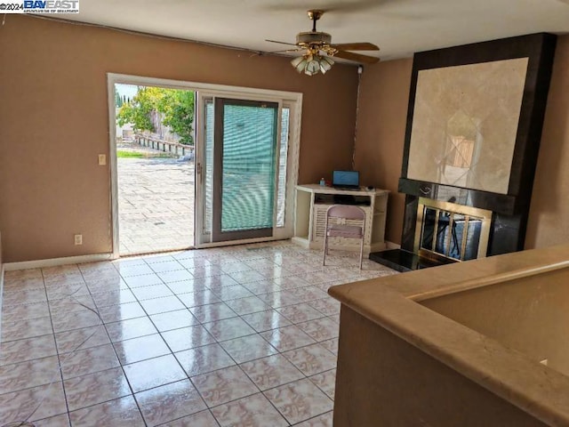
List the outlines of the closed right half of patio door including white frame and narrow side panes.
{"type": "Polygon", "coordinates": [[[205,95],[200,104],[196,246],[289,238],[290,106],[205,95]]]}

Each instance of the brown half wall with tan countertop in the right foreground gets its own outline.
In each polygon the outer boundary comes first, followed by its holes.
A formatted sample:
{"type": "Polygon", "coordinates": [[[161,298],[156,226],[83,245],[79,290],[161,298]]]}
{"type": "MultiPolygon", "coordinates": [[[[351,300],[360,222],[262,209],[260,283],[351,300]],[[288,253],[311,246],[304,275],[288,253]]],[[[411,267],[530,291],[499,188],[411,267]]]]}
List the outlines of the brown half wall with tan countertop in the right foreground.
{"type": "Polygon", "coordinates": [[[569,426],[569,245],[328,292],[334,427],[569,426]]]}

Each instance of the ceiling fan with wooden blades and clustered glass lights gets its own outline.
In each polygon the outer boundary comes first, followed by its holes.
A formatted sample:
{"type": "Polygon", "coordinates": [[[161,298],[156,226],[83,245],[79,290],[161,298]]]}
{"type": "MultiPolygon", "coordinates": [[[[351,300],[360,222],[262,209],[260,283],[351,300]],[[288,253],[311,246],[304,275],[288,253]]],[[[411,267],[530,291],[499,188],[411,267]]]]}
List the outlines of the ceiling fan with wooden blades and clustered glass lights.
{"type": "Polygon", "coordinates": [[[309,10],[309,19],[312,20],[312,30],[301,32],[296,35],[296,43],[278,42],[276,40],[265,40],[271,43],[289,44],[296,46],[296,49],[279,51],[279,52],[304,52],[302,56],[294,58],[291,61],[293,67],[299,73],[305,73],[309,76],[314,76],[318,72],[325,74],[333,66],[332,57],[341,58],[344,60],[354,60],[356,62],[365,64],[374,64],[379,58],[361,53],[354,53],[349,51],[379,51],[380,48],[372,43],[341,43],[333,44],[332,36],[323,31],[317,30],[317,20],[322,17],[325,11],[322,10],[309,10]]]}

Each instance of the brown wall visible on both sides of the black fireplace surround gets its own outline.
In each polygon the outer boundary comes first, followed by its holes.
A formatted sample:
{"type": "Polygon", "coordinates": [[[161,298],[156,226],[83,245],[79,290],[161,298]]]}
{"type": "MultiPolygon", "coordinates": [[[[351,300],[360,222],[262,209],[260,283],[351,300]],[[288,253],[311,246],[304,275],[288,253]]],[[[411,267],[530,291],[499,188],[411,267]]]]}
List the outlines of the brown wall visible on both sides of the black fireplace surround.
{"type": "MultiPolygon", "coordinates": [[[[365,68],[357,117],[356,168],[363,182],[390,189],[387,239],[401,243],[405,197],[397,180],[405,143],[413,60],[365,68]]],[[[560,36],[533,186],[525,247],[569,241],[569,36],[560,36]]]]}

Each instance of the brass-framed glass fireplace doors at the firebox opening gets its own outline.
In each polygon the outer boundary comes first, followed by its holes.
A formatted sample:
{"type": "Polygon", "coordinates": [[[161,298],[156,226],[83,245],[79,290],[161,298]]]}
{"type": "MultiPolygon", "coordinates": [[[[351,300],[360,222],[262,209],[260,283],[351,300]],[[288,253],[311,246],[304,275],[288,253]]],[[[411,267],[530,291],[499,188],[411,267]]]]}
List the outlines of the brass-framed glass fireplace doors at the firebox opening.
{"type": "Polygon", "coordinates": [[[486,256],[492,212],[420,197],[414,253],[434,262],[461,262],[486,256]]]}

